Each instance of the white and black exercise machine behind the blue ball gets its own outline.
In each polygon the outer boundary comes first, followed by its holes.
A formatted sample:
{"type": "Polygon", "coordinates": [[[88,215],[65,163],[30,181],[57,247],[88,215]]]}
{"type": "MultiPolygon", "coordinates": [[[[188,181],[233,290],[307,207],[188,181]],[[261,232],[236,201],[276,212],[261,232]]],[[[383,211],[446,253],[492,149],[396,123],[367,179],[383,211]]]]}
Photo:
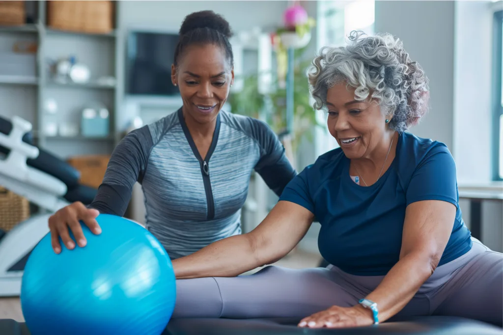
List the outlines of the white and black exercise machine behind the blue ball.
{"type": "Polygon", "coordinates": [[[32,125],[0,117],[0,186],[28,199],[39,212],[11,231],[0,230],[0,296],[19,296],[28,257],[49,233],[48,218],[74,201],[89,204],[96,189],[78,183],[80,174],[33,144],[32,125]]]}

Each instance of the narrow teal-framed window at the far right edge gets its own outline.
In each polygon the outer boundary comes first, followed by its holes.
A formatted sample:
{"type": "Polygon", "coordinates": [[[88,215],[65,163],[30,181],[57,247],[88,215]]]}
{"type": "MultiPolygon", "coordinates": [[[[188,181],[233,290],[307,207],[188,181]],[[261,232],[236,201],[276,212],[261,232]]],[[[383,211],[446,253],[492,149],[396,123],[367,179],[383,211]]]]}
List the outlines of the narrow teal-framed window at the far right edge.
{"type": "Polygon", "coordinates": [[[493,179],[503,179],[503,60],[501,49],[503,46],[503,11],[494,13],[493,21],[493,179]]]}

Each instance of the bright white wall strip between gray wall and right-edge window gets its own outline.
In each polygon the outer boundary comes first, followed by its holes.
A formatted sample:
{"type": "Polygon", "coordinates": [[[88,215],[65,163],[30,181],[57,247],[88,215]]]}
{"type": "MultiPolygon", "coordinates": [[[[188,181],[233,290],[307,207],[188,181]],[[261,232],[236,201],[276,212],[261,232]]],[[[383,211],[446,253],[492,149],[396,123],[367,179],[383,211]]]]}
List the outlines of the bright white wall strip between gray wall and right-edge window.
{"type": "Polygon", "coordinates": [[[492,177],[490,3],[455,2],[454,156],[460,183],[484,183],[492,177]]]}

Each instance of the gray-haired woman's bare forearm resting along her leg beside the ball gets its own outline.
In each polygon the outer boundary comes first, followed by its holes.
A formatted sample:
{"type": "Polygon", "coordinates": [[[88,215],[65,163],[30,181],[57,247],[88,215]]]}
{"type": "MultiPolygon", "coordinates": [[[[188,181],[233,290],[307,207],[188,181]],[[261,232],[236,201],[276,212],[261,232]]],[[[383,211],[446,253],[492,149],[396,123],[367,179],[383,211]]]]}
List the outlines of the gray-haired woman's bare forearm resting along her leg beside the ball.
{"type": "MultiPolygon", "coordinates": [[[[259,266],[249,236],[232,236],[173,261],[177,279],[234,277],[259,266]]],[[[262,265],[262,264],[260,264],[262,265]]]]}

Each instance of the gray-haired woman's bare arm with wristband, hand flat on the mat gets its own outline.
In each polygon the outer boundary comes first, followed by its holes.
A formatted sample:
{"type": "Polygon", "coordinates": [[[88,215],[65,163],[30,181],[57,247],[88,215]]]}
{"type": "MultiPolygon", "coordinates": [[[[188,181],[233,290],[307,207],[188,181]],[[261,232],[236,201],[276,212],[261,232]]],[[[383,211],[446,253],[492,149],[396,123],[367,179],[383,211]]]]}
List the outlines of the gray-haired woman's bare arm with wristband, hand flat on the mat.
{"type": "MultiPolygon", "coordinates": [[[[456,207],[437,200],[420,201],[406,209],[400,260],[366,297],[379,310],[379,322],[398,313],[433,274],[451,235],[456,207]]],[[[361,305],[333,306],[304,318],[309,327],[347,327],[374,323],[372,311],[361,305]]]]}

